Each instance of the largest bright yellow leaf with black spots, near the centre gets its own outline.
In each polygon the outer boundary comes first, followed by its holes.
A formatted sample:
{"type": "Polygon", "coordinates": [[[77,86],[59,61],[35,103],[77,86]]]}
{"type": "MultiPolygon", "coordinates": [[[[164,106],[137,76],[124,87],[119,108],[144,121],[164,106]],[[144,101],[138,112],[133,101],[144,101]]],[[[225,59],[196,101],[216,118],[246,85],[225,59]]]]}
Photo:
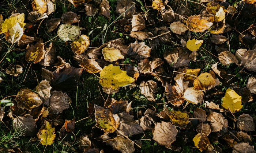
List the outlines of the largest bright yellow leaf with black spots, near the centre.
{"type": "Polygon", "coordinates": [[[113,66],[113,64],[105,66],[99,75],[99,83],[103,87],[111,87],[112,89],[118,89],[135,81],[135,79],[126,74],[126,71],[121,70],[119,66],[113,66]]]}

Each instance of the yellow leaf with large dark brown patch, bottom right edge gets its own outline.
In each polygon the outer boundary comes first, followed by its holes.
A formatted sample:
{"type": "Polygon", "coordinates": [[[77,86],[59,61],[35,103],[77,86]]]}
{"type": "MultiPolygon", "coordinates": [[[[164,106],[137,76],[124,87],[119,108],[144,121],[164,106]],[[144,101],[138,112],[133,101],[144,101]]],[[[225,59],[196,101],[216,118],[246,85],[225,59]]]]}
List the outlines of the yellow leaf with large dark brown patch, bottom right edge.
{"type": "Polygon", "coordinates": [[[208,145],[210,145],[210,141],[205,133],[197,133],[196,136],[193,138],[193,141],[195,143],[195,146],[199,148],[201,152],[204,149],[207,149],[208,145]]]}

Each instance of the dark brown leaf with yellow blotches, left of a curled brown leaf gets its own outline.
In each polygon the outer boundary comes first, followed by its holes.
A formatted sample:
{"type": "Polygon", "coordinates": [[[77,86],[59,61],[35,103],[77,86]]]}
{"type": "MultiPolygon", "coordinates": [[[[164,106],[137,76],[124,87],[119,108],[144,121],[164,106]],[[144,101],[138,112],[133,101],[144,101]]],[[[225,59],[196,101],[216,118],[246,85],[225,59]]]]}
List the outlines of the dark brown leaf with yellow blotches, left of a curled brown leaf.
{"type": "Polygon", "coordinates": [[[27,62],[38,63],[45,56],[45,47],[43,44],[43,40],[40,38],[39,41],[35,44],[32,44],[25,54],[25,59],[27,62]]]}

